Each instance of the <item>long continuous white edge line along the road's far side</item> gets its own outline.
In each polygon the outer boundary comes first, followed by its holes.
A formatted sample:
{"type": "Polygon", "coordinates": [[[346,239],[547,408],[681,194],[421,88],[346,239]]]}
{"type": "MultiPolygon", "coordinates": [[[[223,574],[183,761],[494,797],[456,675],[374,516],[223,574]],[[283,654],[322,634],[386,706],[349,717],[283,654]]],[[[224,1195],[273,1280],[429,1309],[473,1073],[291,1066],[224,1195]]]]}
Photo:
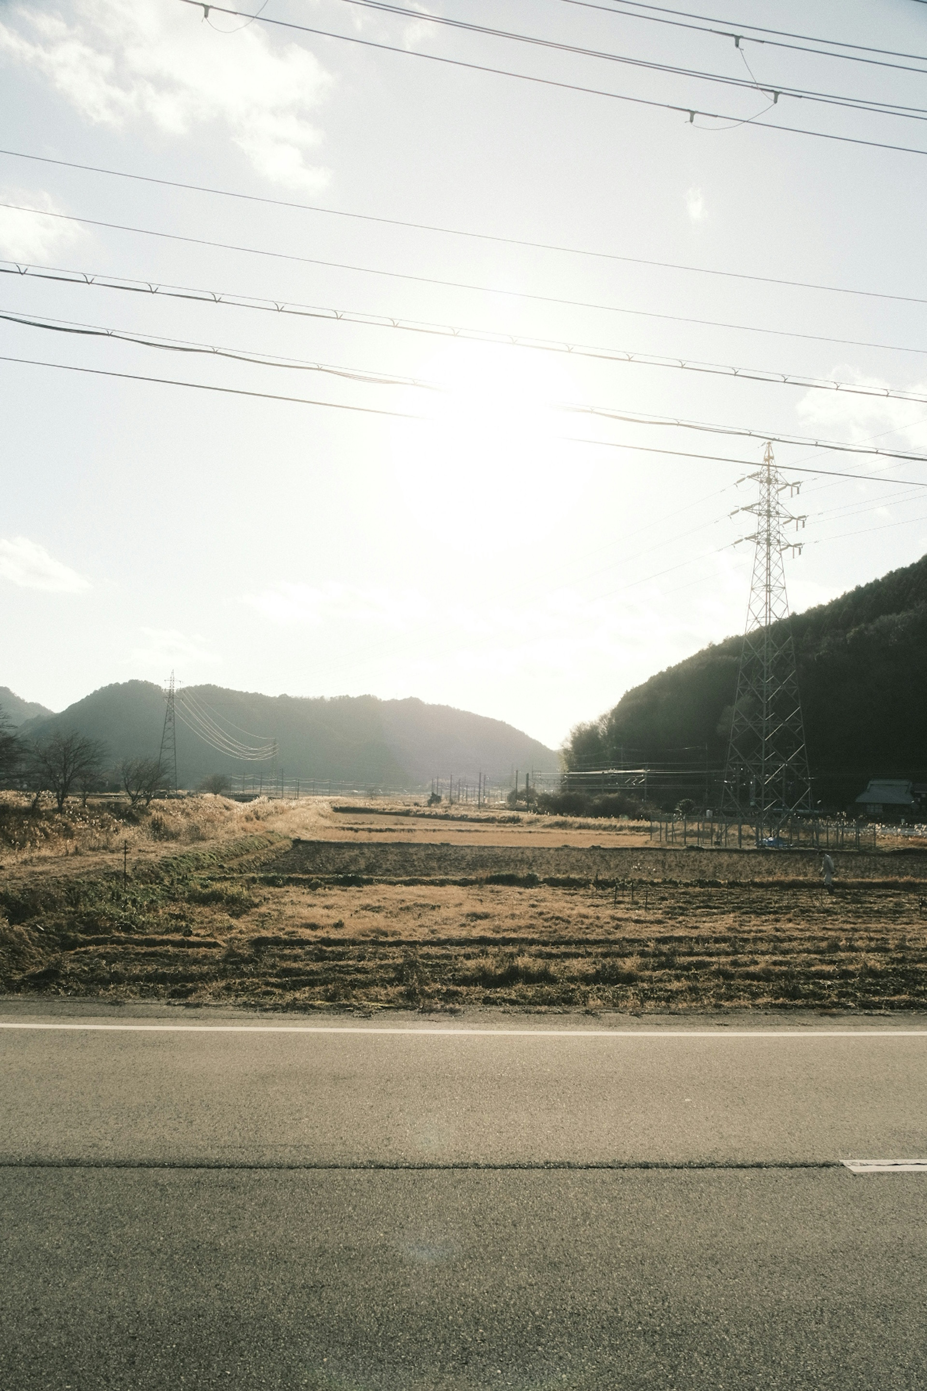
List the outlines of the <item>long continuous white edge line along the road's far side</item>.
{"type": "Polygon", "coordinates": [[[923,1039],[927,1029],[454,1029],[332,1024],[42,1024],[0,1020],[0,1029],[103,1034],[389,1034],[423,1038],[555,1039],[923,1039]]]}

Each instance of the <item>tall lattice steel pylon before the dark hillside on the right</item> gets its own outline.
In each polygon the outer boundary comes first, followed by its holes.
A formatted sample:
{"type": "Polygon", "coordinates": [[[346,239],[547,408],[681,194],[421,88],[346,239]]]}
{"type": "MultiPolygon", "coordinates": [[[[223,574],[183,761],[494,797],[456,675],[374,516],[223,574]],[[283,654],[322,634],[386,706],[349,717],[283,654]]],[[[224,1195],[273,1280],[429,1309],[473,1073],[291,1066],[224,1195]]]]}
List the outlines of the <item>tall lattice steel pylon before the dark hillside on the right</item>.
{"type": "MultiPolygon", "coordinates": [[[[795,811],[810,811],[812,785],[805,747],[802,702],[795,672],[795,644],[788,619],[784,551],[798,551],[785,527],[803,527],[782,505],[782,494],[798,492],[776,467],[773,445],[766,445],[763,466],[748,479],[759,484],[759,498],[738,512],[756,517],[753,580],[746,609],[744,648],[731,716],[731,739],[724,769],[725,812],[777,828],[795,811]]],[[[746,480],[742,480],[746,481],[746,480]]],[[[734,513],[731,513],[734,516],[734,513]]]]}

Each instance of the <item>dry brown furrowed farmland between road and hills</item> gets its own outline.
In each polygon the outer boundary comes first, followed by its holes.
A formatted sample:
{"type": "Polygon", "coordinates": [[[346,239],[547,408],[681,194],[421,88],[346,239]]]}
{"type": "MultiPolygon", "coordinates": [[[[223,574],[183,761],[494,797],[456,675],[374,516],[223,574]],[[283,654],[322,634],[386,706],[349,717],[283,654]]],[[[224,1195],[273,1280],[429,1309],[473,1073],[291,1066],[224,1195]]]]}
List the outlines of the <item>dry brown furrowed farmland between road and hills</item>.
{"type": "MultiPolygon", "coordinates": [[[[25,803],[7,794],[6,814],[22,821],[25,803]]],[[[666,847],[628,822],[211,797],[129,822],[113,805],[44,815],[0,851],[0,990],[19,997],[366,1013],[927,1004],[923,844],[834,854],[828,896],[813,853],[666,847]]]]}

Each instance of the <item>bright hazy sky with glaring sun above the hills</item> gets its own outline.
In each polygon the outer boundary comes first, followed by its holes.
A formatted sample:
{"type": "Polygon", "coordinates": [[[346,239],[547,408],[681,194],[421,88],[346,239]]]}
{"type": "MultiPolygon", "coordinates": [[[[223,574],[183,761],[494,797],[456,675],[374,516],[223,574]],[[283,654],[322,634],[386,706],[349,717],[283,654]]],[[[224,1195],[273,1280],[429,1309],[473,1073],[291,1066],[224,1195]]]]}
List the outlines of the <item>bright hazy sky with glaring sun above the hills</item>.
{"type": "Polygon", "coordinates": [[[927,72],[927,6],[694,6],[716,32],[610,0],[397,8],[0,3],[21,697],[174,670],[557,747],[742,630],[766,435],[798,441],[794,611],[927,551],[924,463],[813,444],[927,453],[927,77],[902,71],[927,72]],[[748,22],[924,58],[735,43],[748,22]]]}

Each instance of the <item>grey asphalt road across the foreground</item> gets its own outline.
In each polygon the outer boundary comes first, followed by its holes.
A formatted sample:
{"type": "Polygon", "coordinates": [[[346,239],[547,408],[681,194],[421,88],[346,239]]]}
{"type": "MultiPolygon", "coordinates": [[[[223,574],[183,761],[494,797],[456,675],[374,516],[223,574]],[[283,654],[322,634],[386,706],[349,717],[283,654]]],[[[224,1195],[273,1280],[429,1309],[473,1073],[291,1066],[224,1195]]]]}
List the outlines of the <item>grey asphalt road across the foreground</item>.
{"type": "Polygon", "coordinates": [[[267,1022],[0,1004],[4,1388],[927,1385],[927,1020],[267,1022]]]}

